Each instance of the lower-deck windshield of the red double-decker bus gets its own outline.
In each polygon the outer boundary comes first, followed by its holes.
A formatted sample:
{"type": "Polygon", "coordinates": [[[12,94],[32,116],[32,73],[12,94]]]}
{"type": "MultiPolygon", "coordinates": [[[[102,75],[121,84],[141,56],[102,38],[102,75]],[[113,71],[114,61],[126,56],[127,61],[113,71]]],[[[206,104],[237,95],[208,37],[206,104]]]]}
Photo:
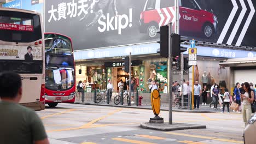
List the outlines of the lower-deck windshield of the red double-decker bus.
{"type": "Polygon", "coordinates": [[[53,91],[63,91],[74,85],[73,68],[45,68],[45,87],[53,91]]]}

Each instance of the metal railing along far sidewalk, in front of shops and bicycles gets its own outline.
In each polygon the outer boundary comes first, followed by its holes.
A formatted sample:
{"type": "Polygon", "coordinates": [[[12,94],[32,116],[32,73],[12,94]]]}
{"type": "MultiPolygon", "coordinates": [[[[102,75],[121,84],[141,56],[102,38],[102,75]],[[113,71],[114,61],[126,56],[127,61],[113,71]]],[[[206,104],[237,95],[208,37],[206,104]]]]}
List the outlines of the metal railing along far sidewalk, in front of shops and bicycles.
{"type": "MultiPolygon", "coordinates": [[[[131,92],[131,105],[151,105],[151,92],[131,92]]],[[[161,105],[168,106],[168,98],[170,97],[167,93],[160,93],[161,105]]],[[[129,91],[112,91],[107,90],[96,91],[93,89],[90,92],[77,91],[75,94],[75,103],[101,103],[101,104],[115,104],[115,105],[129,105],[130,97],[129,91]]],[[[173,107],[181,109],[189,109],[191,101],[191,94],[184,95],[183,93],[174,92],[173,96],[173,107]]]]}

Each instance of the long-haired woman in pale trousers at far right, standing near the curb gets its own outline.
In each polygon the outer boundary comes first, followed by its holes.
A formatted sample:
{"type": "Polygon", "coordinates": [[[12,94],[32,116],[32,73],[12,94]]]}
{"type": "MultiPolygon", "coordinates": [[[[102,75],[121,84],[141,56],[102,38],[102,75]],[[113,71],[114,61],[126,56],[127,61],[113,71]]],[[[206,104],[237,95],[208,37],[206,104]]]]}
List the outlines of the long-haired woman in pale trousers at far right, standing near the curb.
{"type": "Polygon", "coordinates": [[[247,125],[247,122],[251,118],[252,115],[252,106],[251,104],[254,101],[254,93],[251,90],[251,87],[248,82],[245,82],[243,85],[243,89],[245,89],[245,94],[241,94],[242,103],[242,113],[243,113],[243,122],[247,125]]]}

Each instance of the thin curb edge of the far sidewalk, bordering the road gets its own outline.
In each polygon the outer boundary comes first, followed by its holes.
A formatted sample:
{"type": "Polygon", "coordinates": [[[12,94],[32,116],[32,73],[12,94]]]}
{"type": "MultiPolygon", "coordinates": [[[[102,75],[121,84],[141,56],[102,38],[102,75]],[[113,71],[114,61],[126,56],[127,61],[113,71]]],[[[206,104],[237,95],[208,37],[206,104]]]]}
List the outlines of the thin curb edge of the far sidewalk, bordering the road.
{"type": "MultiPolygon", "coordinates": [[[[141,107],[141,106],[127,106],[127,105],[108,105],[108,104],[93,104],[93,103],[74,103],[74,104],[84,104],[84,105],[98,105],[98,106],[110,106],[110,107],[124,107],[124,108],[131,108],[131,109],[144,109],[144,110],[152,110],[150,107],[141,107]]],[[[161,109],[162,111],[169,111],[168,109],[161,109]]],[[[219,112],[219,111],[194,111],[194,110],[177,110],[172,109],[174,112],[189,112],[189,113],[212,113],[212,112],[219,112]]]]}

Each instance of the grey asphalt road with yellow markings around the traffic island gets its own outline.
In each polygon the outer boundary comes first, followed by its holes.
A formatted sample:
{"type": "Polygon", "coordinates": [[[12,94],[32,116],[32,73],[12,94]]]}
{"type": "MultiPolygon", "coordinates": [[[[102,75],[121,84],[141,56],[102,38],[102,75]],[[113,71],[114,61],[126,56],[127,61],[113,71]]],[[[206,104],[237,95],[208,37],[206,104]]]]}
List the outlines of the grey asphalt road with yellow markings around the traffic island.
{"type": "MultiPolygon", "coordinates": [[[[51,143],[243,143],[242,115],[236,113],[173,112],[173,122],[204,124],[207,129],[156,131],[139,124],[154,117],[152,110],[80,104],[59,104],[38,111],[51,143]]],[[[160,117],[168,122],[168,112],[160,117]]]]}

